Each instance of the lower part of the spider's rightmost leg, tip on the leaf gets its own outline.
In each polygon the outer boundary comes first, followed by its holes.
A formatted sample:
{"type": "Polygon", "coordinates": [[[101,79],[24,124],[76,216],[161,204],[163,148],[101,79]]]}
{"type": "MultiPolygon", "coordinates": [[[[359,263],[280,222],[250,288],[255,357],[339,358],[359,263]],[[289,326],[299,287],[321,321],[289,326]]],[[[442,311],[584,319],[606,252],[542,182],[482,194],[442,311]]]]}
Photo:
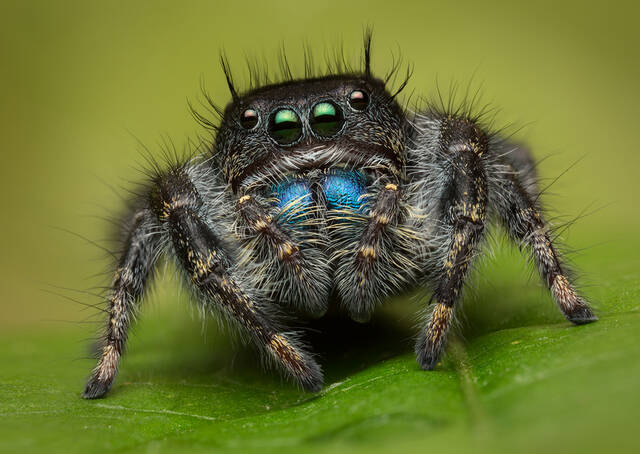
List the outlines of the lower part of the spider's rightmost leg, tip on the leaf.
{"type": "MultiPolygon", "coordinates": [[[[511,168],[513,170],[513,168],[511,168]]],[[[588,303],[576,292],[549,236],[549,227],[516,171],[501,179],[495,205],[511,238],[531,251],[538,271],[567,320],[580,325],[597,320],[588,303]]]]}

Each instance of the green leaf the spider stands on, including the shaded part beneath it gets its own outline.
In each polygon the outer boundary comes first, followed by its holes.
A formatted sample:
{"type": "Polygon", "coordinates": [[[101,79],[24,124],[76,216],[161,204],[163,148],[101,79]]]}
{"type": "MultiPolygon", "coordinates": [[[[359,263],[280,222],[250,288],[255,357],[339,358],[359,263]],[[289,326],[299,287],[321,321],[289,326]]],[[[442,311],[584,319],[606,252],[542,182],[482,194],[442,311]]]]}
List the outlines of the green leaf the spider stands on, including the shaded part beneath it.
{"type": "Polygon", "coordinates": [[[0,451],[631,449],[640,416],[637,261],[587,254],[585,266],[605,282],[588,292],[600,321],[574,327],[527,281],[517,252],[498,255],[499,266],[476,273],[459,334],[433,372],[411,352],[420,298],[390,302],[371,325],[314,325],[326,369],[319,394],[263,371],[216,323],[203,335],[176,298],[143,311],[102,400],[80,398],[93,366],[80,359],[83,330],[4,332],[0,451]]]}

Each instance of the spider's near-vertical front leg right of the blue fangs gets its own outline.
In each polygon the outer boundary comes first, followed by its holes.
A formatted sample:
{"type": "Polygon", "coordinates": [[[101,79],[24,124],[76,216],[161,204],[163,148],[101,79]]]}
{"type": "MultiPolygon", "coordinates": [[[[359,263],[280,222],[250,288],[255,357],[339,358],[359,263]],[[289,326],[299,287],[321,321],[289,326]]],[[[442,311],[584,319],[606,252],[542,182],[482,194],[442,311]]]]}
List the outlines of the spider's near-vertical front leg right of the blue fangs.
{"type": "Polygon", "coordinates": [[[448,117],[440,126],[440,150],[446,182],[439,215],[448,247],[439,257],[434,308],[416,344],[418,363],[433,369],[445,347],[476,246],[482,237],[487,208],[487,178],[482,156],[487,139],[473,123],[448,117]]]}

